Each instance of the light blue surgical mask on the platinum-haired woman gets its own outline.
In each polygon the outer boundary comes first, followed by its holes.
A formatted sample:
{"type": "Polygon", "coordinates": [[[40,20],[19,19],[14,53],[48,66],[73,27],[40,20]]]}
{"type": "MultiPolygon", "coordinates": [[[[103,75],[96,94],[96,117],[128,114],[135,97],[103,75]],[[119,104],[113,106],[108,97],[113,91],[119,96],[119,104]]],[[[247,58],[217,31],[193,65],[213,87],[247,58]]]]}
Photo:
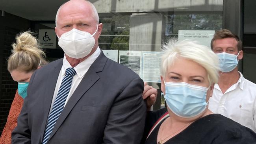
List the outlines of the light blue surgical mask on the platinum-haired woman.
{"type": "Polygon", "coordinates": [[[182,118],[191,118],[202,113],[207,106],[208,88],[188,83],[165,83],[165,101],[169,109],[182,118]]]}

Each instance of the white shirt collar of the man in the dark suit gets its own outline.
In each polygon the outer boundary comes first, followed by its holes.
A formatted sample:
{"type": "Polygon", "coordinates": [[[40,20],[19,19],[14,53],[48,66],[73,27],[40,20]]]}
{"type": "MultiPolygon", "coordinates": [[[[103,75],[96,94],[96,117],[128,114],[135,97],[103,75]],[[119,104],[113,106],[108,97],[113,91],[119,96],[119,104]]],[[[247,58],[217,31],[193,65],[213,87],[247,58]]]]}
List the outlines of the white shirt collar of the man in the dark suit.
{"type": "MultiPolygon", "coordinates": [[[[76,74],[79,78],[82,78],[85,75],[89,67],[93,64],[93,62],[97,59],[99,55],[100,48],[98,47],[92,55],[90,55],[89,57],[87,57],[87,59],[83,60],[81,63],[74,67],[74,69],[76,70],[76,74]]],[[[72,66],[70,65],[69,61],[67,61],[66,56],[64,54],[61,76],[65,76],[66,69],[70,67],[72,66]]]]}

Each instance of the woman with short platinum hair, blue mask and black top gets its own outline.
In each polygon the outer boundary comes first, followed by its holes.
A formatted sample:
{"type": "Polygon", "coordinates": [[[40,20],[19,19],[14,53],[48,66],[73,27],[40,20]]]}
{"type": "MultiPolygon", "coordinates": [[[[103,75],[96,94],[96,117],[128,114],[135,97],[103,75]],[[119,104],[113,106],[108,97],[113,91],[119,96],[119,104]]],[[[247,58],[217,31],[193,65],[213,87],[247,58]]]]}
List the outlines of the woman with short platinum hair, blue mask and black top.
{"type": "Polygon", "coordinates": [[[145,144],[256,144],[252,130],[208,109],[218,64],[217,55],[198,42],[173,39],[163,45],[161,90],[167,108],[148,113],[145,144]]]}

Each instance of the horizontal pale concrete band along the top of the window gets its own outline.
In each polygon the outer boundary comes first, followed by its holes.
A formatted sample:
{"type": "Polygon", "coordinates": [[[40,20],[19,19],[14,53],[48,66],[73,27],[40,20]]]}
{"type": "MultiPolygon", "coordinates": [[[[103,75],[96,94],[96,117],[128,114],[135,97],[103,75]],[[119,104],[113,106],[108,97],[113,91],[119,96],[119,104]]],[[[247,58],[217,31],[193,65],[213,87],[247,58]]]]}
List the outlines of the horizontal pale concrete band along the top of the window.
{"type": "Polygon", "coordinates": [[[222,11],[223,0],[90,0],[98,13],[222,11]]]}

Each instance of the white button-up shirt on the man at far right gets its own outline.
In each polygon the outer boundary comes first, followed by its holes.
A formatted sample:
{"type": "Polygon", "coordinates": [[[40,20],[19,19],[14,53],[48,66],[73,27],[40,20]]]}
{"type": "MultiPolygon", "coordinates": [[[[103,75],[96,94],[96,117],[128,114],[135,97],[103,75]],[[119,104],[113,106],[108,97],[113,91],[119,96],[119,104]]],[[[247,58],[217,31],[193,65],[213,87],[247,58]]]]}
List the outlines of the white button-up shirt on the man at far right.
{"type": "Polygon", "coordinates": [[[256,84],[245,79],[241,72],[237,83],[223,94],[215,84],[209,109],[256,132],[256,84]]]}

